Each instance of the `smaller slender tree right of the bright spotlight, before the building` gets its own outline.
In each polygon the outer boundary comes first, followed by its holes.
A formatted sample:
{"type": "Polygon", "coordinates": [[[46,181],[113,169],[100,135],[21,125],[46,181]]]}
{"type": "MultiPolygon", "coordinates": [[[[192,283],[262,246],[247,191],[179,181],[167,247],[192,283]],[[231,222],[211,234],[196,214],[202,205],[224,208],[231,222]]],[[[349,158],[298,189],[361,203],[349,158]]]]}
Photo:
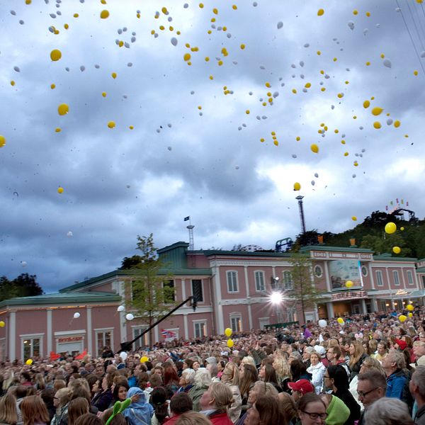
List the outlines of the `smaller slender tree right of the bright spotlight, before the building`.
{"type": "Polygon", "coordinates": [[[300,300],[305,321],[305,310],[315,308],[321,299],[320,293],[312,281],[312,260],[305,255],[293,253],[290,256],[290,263],[293,278],[293,289],[290,290],[290,295],[295,300],[300,300]]]}

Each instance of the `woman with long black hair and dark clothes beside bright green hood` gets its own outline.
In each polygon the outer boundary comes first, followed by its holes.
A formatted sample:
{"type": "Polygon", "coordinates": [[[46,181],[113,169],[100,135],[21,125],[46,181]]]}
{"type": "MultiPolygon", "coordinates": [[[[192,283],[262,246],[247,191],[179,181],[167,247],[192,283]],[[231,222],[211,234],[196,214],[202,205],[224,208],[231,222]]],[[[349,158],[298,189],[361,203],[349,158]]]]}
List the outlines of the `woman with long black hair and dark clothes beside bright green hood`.
{"type": "Polygon", "coordinates": [[[341,399],[350,409],[350,416],[348,416],[346,425],[353,425],[354,421],[358,421],[360,419],[360,406],[349,390],[346,370],[341,365],[330,365],[324,373],[324,384],[331,388],[332,395],[341,399]]]}

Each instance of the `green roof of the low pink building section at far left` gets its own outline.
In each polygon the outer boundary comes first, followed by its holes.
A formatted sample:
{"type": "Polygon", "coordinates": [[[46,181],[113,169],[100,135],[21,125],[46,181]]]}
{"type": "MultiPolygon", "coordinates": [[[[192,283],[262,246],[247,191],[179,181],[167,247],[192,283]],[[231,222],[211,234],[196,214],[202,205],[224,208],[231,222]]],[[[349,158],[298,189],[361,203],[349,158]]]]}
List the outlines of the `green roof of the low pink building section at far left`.
{"type": "Polygon", "coordinates": [[[8,305],[78,304],[80,302],[121,302],[120,295],[108,292],[73,292],[18,297],[0,302],[0,307],[8,305]]]}

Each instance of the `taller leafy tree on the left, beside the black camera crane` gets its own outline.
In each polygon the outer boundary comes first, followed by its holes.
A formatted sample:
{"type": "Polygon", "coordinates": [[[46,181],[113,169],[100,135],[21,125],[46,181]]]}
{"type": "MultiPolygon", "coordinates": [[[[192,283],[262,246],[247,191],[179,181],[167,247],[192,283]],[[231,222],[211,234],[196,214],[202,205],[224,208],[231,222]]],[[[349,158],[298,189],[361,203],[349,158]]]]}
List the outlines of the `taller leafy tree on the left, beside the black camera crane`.
{"type": "MultiPolygon", "coordinates": [[[[128,297],[125,304],[134,309],[141,321],[151,327],[157,317],[175,305],[174,280],[172,276],[159,275],[165,265],[158,258],[152,233],[149,236],[137,236],[137,241],[136,249],[141,254],[132,256],[131,259],[139,257],[140,261],[130,266],[134,277],[127,283],[128,297]]],[[[124,263],[125,259],[123,265],[124,263]]],[[[149,330],[149,346],[152,346],[152,329],[149,330]]]]}

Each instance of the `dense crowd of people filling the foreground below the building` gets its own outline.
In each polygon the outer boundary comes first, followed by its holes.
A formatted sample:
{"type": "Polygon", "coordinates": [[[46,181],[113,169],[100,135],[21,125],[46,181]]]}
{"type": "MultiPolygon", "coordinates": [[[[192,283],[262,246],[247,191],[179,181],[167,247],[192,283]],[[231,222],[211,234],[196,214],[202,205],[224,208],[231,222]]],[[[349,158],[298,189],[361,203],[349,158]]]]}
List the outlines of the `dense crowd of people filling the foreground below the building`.
{"type": "Polygon", "coordinates": [[[5,361],[0,425],[424,425],[425,308],[402,313],[5,361]]]}

